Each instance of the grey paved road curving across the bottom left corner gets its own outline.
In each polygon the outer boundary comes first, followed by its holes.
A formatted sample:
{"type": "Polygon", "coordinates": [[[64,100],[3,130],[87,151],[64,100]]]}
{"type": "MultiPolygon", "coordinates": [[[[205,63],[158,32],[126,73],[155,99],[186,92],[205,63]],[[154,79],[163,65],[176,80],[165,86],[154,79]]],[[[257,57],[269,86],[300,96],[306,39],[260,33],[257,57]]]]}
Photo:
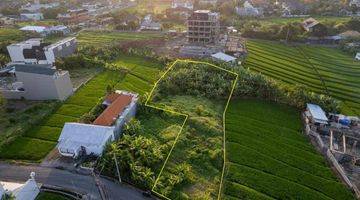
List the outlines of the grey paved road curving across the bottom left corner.
{"type": "MultiPolygon", "coordinates": [[[[18,166],[0,163],[0,180],[11,182],[25,182],[31,172],[35,172],[38,183],[53,185],[87,194],[91,199],[100,200],[99,188],[93,176],[74,174],[65,170],[39,166],[18,166]]],[[[116,184],[107,179],[99,178],[104,192],[109,200],[144,200],[141,191],[125,185],[116,184]]]]}

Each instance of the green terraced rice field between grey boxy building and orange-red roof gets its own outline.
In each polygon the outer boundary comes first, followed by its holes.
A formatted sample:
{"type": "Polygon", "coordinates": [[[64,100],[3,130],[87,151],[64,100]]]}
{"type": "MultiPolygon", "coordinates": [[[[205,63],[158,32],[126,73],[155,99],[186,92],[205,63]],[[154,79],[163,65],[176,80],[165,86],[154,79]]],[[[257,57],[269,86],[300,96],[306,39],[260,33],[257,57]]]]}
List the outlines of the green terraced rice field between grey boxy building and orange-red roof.
{"type": "Polygon", "coordinates": [[[108,85],[143,95],[151,90],[160,73],[159,65],[155,61],[144,58],[123,56],[117,62],[121,63],[119,68],[131,66],[131,71],[127,74],[118,70],[99,73],[40,125],[4,147],[0,151],[0,158],[40,161],[55,147],[64,123],[77,122],[81,116],[88,113],[105,96],[108,85]]]}

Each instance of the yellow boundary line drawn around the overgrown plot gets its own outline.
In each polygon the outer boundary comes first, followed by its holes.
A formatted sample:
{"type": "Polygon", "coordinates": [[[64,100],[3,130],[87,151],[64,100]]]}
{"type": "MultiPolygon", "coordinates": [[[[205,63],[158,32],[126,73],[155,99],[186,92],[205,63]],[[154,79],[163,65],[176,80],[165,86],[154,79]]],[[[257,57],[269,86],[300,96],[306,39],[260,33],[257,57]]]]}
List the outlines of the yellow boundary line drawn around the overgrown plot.
{"type": "Polygon", "coordinates": [[[189,118],[189,115],[187,115],[187,114],[183,114],[183,113],[179,113],[179,112],[176,112],[176,111],[173,111],[173,110],[168,110],[168,109],[156,107],[156,106],[153,106],[153,105],[149,105],[149,101],[150,101],[150,99],[151,99],[151,97],[152,97],[152,95],[153,95],[153,93],[154,93],[154,91],[155,91],[155,88],[156,88],[157,85],[159,84],[159,82],[166,76],[166,74],[167,74],[170,70],[172,70],[172,69],[174,68],[174,66],[175,66],[178,62],[186,62],[186,63],[194,63],[194,64],[205,64],[205,65],[209,65],[209,66],[215,67],[215,68],[217,68],[217,69],[219,69],[219,70],[222,70],[222,71],[231,73],[232,75],[235,75],[235,76],[236,76],[236,78],[235,78],[235,80],[234,80],[234,82],[233,82],[233,86],[232,86],[230,95],[229,95],[229,97],[228,97],[228,99],[227,99],[224,112],[223,112],[223,148],[224,148],[224,150],[223,150],[224,159],[223,159],[223,160],[224,160],[224,162],[223,162],[223,168],[222,168],[221,179],[220,179],[220,186],[219,186],[219,192],[218,192],[218,198],[217,198],[217,199],[220,199],[220,198],[221,198],[222,185],[223,185],[223,179],[224,179],[224,173],[225,173],[225,164],[226,164],[225,117],[226,117],[226,111],[227,111],[227,108],[228,108],[228,106],[229,106],[231,97],[232,97],[232,95],[233,95],[233,93],[234,93],[235,86],[236,86],[237,80],[238,80],[238,78],[239,78],[239,75],[238,75],[237,73],[235,73],[235,72],[232,72],[232,71],[230,71],[230,70],[227,70],[227,69],[218,67],[218,66],[213,65],[213,64],[211,64],[211,63],[201,62],[201,61],[193,61],[193,60],[179,60],[179,59],[178,59],[178,60],[176,60],[175,62],[173,62],[173,63],[170,65],[170,67],[163,73],[163,75],[161,75],[161,77],[155,82],[154,87],[152,88],[152,90],[151,90],[151,92],[150,92],[150,94],[149,94],[149,96],[148,96],[148,98],[146,99],[146,102],[145,102],[145,106],[148,106],[148,107],[151,107],[151,108],[154,108],[154,109],[162,110],[162,111],[165,111],[165,112],[169,112],[169,113],[172,113],[172,114],[175,114],[175,115],[179,115],[179,116],[184,116],[184,117],[185,117],[185,120],[184,120],[184,122],[183,122],[182,125],[181,125],[180,131],[179,131],[179,133],[177,134],[177,136],[176,136],[176,138],[175,138],[175,141],[174,141],[174,143],[173,143],[173,145],[172,145],[172,147],[171,147],[171,149],[170,149],[170,151],[169,151],[169,153],[168,153],[168,155],[167,155],[167,157],[166,157],[166,159],[165,159],[165,161],[164,161],[163,166],[161,167],[161,170],[160,170],[160,172],[159,172],[159,175],[157,176],[157,178],[156,178],[156,180],[155,180],[155,183],[154,183],[151,191],[152,191],[153,193],[159,195],[160,197],[164,198],[164,199],[170,200],[170,198],[168,198],[168,197],[166,197],[166,196],[164,196],[164,195],[156,192],[154,189],[155,189],[155,187],[156,187],[156,185],[157,185],[157,183],[158,183],[158,181],[159,181],[159,179],[160,179],[160,176],[161,176],[161,174],[162,174],[162,172],[163,172],[163,170],[164,170],[164,168],[165,168],[165,166],[166,166],[166,164],[167,164],[167,162],[168,162],[168,160],[169,160],[169,158],[170,158],[170,155],[171,155],[172,151],[173,151],[174,148],[175,148],[175,145],[176,145],[177,141],[179,140],[180,134],[181,134],[181,132],[182,132],[182,130],[183,130],[183,128],[184,128],[184,126],[185,126],[188,118],[189,118]]]}

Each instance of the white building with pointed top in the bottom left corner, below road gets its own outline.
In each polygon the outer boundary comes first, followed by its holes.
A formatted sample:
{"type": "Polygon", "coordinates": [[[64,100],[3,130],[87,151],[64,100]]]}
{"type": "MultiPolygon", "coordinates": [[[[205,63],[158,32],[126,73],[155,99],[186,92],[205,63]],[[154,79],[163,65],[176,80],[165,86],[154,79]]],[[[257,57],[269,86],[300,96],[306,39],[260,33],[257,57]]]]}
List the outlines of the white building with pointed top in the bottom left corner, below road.
{"type": "Polygon", "coordinates": [[[25,183],[0,181],[0,200],[35,200],[40,193],[40,186],[35,181],[35,173],[31,172],[30,179],[25,183]]]}

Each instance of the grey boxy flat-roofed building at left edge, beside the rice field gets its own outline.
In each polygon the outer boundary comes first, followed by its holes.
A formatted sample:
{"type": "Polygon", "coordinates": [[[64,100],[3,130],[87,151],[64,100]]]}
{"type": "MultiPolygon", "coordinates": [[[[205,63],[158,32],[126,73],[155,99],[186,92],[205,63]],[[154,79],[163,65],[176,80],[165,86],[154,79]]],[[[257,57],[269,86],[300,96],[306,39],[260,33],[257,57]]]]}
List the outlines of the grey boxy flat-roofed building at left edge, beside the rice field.
{"type": "Polygon", "coordinates": [[[0,86],[7,99],[61,100],[73,93],[68,71],[56,70],[52,65],[9,64],[5,74],[13,81],[0,86]]]}

